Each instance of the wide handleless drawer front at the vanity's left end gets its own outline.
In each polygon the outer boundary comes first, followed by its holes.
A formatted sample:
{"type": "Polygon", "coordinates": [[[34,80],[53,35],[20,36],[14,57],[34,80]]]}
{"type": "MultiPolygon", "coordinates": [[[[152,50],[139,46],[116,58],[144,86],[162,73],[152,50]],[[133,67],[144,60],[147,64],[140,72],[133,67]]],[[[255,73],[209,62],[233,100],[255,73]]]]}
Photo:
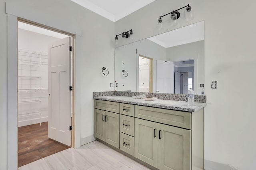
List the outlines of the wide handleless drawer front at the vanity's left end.
{"type": "Polygon", "coordinates": [[[109,102],[104,100],[94,100],[94,108],[119,113],[120,104],[118,102],[109,102]]]}

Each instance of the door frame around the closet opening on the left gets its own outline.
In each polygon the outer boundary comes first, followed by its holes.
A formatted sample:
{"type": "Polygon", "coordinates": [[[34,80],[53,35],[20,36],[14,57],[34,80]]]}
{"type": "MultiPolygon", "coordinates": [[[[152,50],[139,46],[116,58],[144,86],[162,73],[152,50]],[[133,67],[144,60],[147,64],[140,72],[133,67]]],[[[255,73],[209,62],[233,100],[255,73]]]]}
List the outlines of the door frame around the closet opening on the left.
{"type": "MultiPolygon", "coordinates": [[[[76,113],[77,107],[80,103],[76,103],[76,48],[81,39],[81,32],[76,30],[69,30],[70,32],[62,31],[62,28],[53,28],[20,18],[7,13],[7,168],[8,170],[18,169],[18,21],[27,22],[42,28],[67,34],[73,37],[73,60],[72,60],[72,82],[73,82],[73,115],[72,115],[72,147],[80,147],[80,112],[76,113]],[[76,126],[78,128],[76,128],[76,126]]],[[[69,24],[69,23],[67,23],[69,24]]],[[[49,22],[48,25],[51,25],[49,22]]],[[[78,53],[78,52],[77,52],[78,53]]],[[[79,81],[79,80],[78,80],[79,81]]],[[[79,92],[77,92],[79,93],[79,92]]]]}

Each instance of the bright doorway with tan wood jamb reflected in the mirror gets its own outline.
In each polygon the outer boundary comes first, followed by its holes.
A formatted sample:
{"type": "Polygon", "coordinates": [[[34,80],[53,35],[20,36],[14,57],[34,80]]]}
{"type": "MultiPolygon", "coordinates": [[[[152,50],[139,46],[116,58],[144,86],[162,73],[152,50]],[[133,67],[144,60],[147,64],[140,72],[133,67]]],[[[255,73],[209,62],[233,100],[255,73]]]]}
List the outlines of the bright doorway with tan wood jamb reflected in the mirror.
{"type": "Polygon", "coordinates": [[[146,56],[139,55],[139,92],[153,91],[153,59],[146,56]]]}

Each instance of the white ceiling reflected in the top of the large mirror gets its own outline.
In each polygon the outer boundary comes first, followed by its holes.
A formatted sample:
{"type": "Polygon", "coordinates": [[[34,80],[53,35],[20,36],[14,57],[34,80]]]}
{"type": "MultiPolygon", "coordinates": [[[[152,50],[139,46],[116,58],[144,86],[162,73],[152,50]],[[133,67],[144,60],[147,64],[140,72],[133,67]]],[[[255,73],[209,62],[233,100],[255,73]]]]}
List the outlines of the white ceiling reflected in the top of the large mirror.
{"type": "Polygon", "coordinates": [[[204,21],[153,36],[148,40],[164,48],[204,40],[204,21]]]}

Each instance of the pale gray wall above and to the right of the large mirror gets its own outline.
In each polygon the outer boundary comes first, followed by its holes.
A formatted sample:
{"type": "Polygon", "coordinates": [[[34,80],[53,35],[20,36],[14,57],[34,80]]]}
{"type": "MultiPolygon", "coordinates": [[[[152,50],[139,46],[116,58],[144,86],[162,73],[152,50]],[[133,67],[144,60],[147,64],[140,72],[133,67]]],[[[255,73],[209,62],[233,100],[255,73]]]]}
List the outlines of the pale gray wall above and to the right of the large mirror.
{"type": "MultiPolygon", "coordinates": [[[[206,170],[220,170],[220,163],[226,165],[221,170],[256,169],[256,90],[238,90],[256,84],[255,6],[254,0],[156,0],[115,22],[116,34],[132,28],[137,41],[204,20],[206,170]],[[192,21],[185,22],[181,11],[178,26],[165,25],[161,32],[156,29],[160,15],[188,3],[194,10],[192,21]],[[236,12],[241,9],[246,9],[242,15],[236,12]],[[211,89],[212,81],[217,81],[216,90],[211,89]]],[[[167,23],[169,17],[163,19],[167,23]]]]}

